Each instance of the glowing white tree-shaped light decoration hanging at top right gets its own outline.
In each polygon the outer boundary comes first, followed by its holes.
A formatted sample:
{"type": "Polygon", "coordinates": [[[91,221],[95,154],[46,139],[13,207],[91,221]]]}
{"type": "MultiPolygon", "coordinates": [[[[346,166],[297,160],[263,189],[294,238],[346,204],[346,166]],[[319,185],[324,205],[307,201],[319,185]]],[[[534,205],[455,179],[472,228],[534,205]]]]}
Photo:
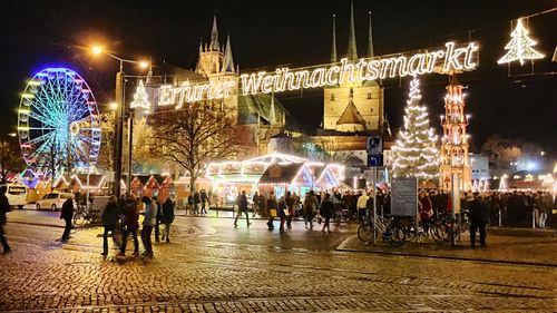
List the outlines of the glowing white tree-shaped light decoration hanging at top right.
{"type": "Polygon", "coordinates": [[[524,65],[525,60],[543,59],[545,56],[532,48],[537,41],[529,38],[528,33],[528,29],[522,26],[522,20],[519,19],[517,27],[510,33],[509,43],[505,46],[505,50],[509,51],[497,63],[509,63],[518,60],[520,65],[524,65]]]}

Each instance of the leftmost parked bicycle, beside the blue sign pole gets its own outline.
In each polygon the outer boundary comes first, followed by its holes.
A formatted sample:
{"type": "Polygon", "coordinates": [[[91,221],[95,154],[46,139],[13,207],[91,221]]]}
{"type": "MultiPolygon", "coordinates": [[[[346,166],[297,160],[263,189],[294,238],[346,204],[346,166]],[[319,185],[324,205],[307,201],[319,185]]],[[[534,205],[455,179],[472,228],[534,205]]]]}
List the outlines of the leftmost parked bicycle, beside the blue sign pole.
{"type": "MultiPolygon", "coordinates": [[[[381,236],[381,239],[391,246],[401,246],[407,241],[405,232],[400,222],[394,219],[394,216],[389,218],[377,216],[375,232],[375,237],[381,236]]],[[[373,217],[369,214],[358,228],[358,238],[367,245],[373,243],[373,217]]]]}

